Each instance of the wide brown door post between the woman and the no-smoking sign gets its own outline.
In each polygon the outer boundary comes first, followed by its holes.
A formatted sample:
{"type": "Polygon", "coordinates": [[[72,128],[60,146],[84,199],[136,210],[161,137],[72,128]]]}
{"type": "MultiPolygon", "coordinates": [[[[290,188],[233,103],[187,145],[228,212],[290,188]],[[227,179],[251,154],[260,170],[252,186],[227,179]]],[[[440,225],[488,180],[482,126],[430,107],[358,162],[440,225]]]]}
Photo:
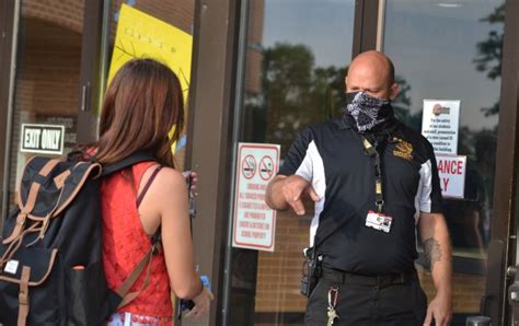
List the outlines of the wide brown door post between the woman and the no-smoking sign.
{"type": "Polygon", "coordinates": [[[234,94],[240,8],[243,0],[196,0],[185,168],[198,173],[193,221],[196,265],[212,280],[210,313],[182,325],[222,325],[230,223],[234,94]],[[215,42],[218,39],[218,42],[215,42]]]}

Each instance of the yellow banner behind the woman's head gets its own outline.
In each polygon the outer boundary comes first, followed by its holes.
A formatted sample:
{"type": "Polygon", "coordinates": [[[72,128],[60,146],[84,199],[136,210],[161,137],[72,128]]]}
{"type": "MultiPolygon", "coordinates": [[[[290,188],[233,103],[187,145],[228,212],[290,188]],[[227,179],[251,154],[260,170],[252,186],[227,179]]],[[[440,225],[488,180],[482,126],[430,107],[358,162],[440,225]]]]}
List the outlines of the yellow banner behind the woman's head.
{"type": "Polygon", "coordinates": [[[108,83],[117,70],[127,61],[134,58],[157,59],[176,73],[181,81],[184,103],[186,103],[189,90],[192,51],[192,35],[135,8],[123,4],[109,65],[108,83]]]}

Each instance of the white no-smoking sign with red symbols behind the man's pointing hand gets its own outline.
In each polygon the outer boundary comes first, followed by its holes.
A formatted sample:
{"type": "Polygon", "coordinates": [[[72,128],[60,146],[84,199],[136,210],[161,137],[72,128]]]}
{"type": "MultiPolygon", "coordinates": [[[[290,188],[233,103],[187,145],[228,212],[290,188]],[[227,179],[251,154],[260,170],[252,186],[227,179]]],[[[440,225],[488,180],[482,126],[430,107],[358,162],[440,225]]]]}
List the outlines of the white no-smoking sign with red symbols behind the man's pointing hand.
{"type": "Polygon", "coordinates": [[[239,143],[232,246],[274,252],[276,211],[265,190],[278,167],[278,144],[239,143]]]}

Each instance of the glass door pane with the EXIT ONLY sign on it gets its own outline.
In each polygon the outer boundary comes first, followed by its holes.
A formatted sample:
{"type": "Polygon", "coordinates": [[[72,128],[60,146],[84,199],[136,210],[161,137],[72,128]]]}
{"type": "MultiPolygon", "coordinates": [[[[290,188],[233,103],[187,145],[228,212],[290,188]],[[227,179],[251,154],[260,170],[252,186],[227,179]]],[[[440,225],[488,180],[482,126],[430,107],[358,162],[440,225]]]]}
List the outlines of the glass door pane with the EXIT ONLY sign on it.
{"type": "Polygon", "coordinates": [[[84,0],[20,1],[9,208],[32,155],[59,156],[76,144],[84,0]]]}

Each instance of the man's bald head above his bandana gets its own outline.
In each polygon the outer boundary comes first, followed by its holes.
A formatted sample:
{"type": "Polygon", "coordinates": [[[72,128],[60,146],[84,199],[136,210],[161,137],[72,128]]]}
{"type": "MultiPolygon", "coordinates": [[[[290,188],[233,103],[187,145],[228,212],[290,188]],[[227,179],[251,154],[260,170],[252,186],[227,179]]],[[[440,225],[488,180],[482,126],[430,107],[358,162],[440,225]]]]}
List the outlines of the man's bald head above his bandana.
{"type": "Polygon", "coordinates": [[[346,75],[346,92],[364,91],[378,98],[394,100],[399,84],[394,81],[394,66],[384,54],[366,51],[351,61],[346,75]]]}

